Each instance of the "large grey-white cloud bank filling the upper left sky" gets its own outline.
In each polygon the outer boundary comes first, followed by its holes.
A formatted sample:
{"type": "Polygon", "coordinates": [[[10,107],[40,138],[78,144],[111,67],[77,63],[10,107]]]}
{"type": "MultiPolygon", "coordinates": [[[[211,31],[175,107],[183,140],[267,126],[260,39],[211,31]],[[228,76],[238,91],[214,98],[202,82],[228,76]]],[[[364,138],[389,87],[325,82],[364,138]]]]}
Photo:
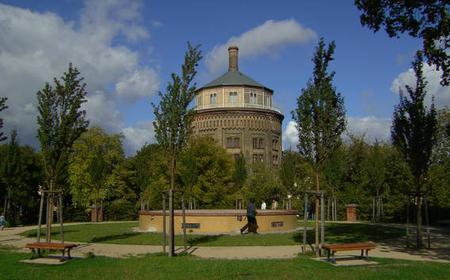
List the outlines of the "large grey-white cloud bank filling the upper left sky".
{"type": "Polygon", "coordinates": [[[120,132],[117,98],[148,97],[159,87],[157,71],[140,66],[139,53],[115,40],[149,38],[139,8],[139,1],[87,0],[79,20],[68,22],[53,13],[0,4],[0,95],[8,97],[9,106],[2,112],[5,131],[17,128],[22,142],[37,146],[36,92],[72,62],[88,85],[91,124],[120,132]],[[117,93],[111,92],[115,86],[117,93]]]}

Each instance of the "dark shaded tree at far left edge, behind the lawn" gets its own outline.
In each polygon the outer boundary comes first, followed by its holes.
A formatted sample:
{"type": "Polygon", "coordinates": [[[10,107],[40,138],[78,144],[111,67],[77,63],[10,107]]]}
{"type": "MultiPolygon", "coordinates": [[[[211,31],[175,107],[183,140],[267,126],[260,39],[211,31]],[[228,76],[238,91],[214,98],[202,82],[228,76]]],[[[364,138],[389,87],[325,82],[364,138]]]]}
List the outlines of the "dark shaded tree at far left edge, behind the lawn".
{"type": "Polygon", "coordinates": [[[10,225],[37,222],[37,185],[42,180],[41,158],[20,146],[12,131],[9,144],[0,146],[0,201],[10,225]]]}

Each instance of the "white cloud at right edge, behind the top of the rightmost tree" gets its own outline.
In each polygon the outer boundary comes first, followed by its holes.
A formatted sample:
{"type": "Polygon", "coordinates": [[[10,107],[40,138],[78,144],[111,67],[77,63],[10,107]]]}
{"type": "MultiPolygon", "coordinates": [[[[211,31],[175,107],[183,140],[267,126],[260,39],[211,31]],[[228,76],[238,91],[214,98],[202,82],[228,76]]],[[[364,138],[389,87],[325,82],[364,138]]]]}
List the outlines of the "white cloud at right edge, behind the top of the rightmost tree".
{"type": "MultiPolygon", "coordinates": [[[[441,71],[436,71],[434,66],[430,66],[427,63],[423,64],[423,75],[428,82],[426,90],[426,104],[431,104],[431,98],[434,96],[434,104],[436,108],[443,108],[445,106],[450,107],[450,87],[443,87],[440,85],[441,71]]],[[[391,91],[399,93],[399,89],[405,91],[405,85],[409,85],[413,89],[416,87],[416,76],[412,68],[400,73],[391,84],[391,91]]]]}

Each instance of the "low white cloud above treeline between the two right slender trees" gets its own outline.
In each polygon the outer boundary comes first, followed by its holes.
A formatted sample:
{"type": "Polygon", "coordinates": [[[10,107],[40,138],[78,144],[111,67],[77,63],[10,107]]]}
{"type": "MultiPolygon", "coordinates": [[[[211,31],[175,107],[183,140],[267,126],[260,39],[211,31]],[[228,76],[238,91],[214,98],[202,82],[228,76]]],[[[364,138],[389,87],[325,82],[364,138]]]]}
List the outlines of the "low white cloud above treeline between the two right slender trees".
{"type": "Polygon", "coordinates": [[[367,116],[349,117],[347,121],[347,131],[352,135],[364,135],[364,138],[370,142],[390,139],[392,122],[390,119],[367,116]]]}

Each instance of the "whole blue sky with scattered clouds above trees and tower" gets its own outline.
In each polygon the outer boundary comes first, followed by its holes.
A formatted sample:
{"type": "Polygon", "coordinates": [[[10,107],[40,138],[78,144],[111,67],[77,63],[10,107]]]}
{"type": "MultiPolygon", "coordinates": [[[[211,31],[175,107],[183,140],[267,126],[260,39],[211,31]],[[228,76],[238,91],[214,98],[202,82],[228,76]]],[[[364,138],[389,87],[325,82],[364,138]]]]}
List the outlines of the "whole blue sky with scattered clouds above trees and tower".
{"type": "MultiPolygon", "coordinates": [[[[348,133],[388,141],[399,88],[415,84],[411,61],[420,39],[389,38],[361,26],[353,1],[0,0],[0,96],[4,131],[39,147],[36,92],[69,63],[87,83],[91,125],[122,133],[127,155],[155,142],[151,103],[180,73],[187,42],[201,44],[202,86],[227,70],[227,47],[239,47],[239,70],[274,90],[282,110],[283,147],[298,143],[291,111],[312,75],[320,38],[335,41],[334,85],[344,97],[348,133]]],[[[424,65],[427,102],[450,107],[450,87],[424,65]]]]}

